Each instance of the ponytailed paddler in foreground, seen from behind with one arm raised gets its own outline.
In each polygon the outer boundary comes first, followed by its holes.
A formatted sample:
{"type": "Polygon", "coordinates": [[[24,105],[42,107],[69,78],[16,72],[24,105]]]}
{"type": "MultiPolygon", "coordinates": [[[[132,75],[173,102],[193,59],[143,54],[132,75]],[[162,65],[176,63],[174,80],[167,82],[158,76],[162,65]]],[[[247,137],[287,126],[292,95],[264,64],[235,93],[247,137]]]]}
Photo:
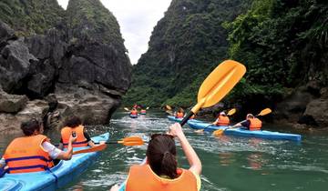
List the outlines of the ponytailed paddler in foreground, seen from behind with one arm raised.
{"type": "MultiPolygon", "coordinates": [[[[190,146],[179,124],[170,126],[168,135],[151,136],[146,156],[145,165],[130,167],[126,191],[200,190],[200,158],[190,146]],[[188,170],[178,168],[174,137],[179,139],[190,163],[188,170]]],[[[118,186],[113,186],[111,191],[118,191],[118,186]]]]}

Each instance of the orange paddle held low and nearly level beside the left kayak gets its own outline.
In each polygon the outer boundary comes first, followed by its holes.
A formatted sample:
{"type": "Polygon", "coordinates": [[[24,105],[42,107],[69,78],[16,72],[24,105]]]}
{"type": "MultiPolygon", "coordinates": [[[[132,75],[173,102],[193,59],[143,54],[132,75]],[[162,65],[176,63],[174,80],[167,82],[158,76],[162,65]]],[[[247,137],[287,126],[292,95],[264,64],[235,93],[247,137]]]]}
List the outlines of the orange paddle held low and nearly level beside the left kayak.
{"type": "Polygon", "coordinates": [[[142,146],[142,145],[144,145],[144,141],[142,140],[142,138],[140,138],[138,136],[129,136],[129,137],[123,138],[122,140],[109,141],[109,142],[106,142],[106,144],[103,144],[103,145],[94,146],[92,148],[87,148],[87,149],[83,149],[83,150],[74,151],[73,155],[77,155],[77,154],[81,154],[81,153],[90,153],[90,152],[102,151],[106,148],[107,144],[122,144],[123,146],[142,146]]]}

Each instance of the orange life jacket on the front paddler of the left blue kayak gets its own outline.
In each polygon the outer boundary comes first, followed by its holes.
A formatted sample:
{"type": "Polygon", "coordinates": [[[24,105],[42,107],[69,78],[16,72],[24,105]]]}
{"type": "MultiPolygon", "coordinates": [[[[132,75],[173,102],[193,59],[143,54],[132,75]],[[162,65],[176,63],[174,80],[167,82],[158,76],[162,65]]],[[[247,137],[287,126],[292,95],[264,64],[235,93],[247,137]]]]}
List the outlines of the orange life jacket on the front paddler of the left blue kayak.
{"type": "Polygon", "coordinates": [[[77,126],[74,128],[65,126],[64,128],[62,128],[60,134],[62,136],[64,147],[68,146],[69,137],[72,135],[72,132],[76,132],[76,135],[77,135],[77,140],[74,143],[72,143],[73,147],[88,146],[87,138],[84,136],[83,129],[84,129],[84,126],[77,126]]]}

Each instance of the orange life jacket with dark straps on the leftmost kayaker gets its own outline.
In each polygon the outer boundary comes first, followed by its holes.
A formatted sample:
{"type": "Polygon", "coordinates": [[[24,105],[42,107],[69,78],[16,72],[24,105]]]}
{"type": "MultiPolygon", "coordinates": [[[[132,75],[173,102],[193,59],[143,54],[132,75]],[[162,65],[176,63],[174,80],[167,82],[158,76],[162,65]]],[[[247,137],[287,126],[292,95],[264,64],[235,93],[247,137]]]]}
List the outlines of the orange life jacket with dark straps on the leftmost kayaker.
{"type": "Polygon", "coordinates": [[[5,149],[5,163],[8,173],[30,173],[45,171],[54,166],[42,144],[46,136],[24,136],[15,138],[5,149]]]}

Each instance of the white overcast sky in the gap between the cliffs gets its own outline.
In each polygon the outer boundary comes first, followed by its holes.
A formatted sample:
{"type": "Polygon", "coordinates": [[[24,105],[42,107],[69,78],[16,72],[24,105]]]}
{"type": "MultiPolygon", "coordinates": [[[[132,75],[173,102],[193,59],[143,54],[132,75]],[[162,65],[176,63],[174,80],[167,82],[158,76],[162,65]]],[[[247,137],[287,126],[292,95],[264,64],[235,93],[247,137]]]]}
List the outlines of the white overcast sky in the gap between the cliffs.
{"type": "MultiPolygon", "coordinates": [[[[57,0],[67,8],[68,0],[57,0]]],[[[171,0],[100,0],[118,19],[131,63],[148,49],[154,26],[168,9],[171,0]]]]}

